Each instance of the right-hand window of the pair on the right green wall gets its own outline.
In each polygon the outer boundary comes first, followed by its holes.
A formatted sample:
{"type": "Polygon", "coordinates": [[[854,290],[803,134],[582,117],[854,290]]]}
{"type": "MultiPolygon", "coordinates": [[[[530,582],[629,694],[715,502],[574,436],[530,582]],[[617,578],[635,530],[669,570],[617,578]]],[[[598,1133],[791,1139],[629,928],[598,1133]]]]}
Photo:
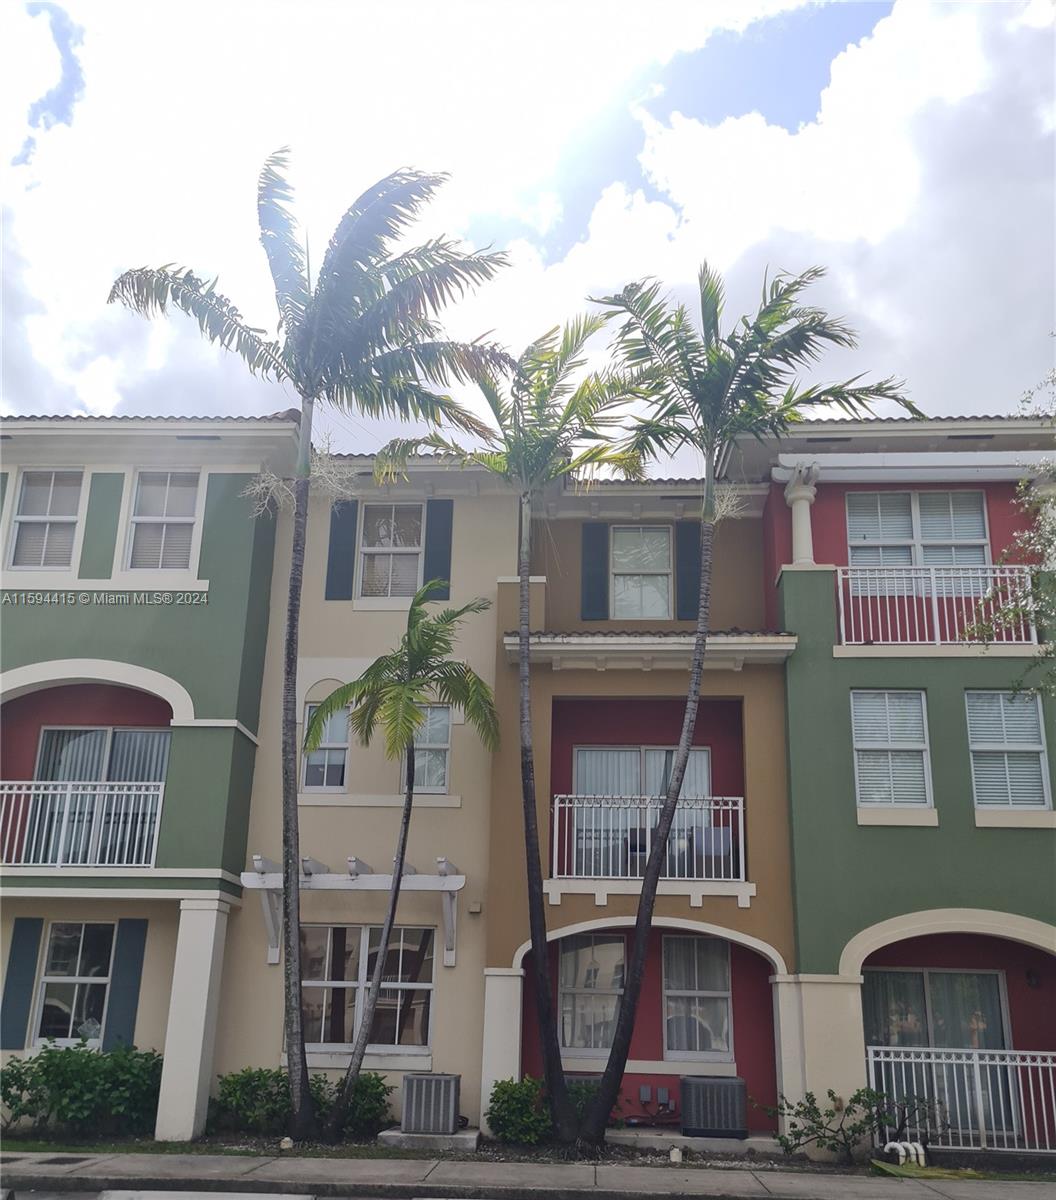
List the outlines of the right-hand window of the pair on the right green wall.
{"type": "Polygon", "coordinates": [[[968,691],[968,743],[977,808],[1049,808],[1042,704],[1037,695],[968,691]]]}

